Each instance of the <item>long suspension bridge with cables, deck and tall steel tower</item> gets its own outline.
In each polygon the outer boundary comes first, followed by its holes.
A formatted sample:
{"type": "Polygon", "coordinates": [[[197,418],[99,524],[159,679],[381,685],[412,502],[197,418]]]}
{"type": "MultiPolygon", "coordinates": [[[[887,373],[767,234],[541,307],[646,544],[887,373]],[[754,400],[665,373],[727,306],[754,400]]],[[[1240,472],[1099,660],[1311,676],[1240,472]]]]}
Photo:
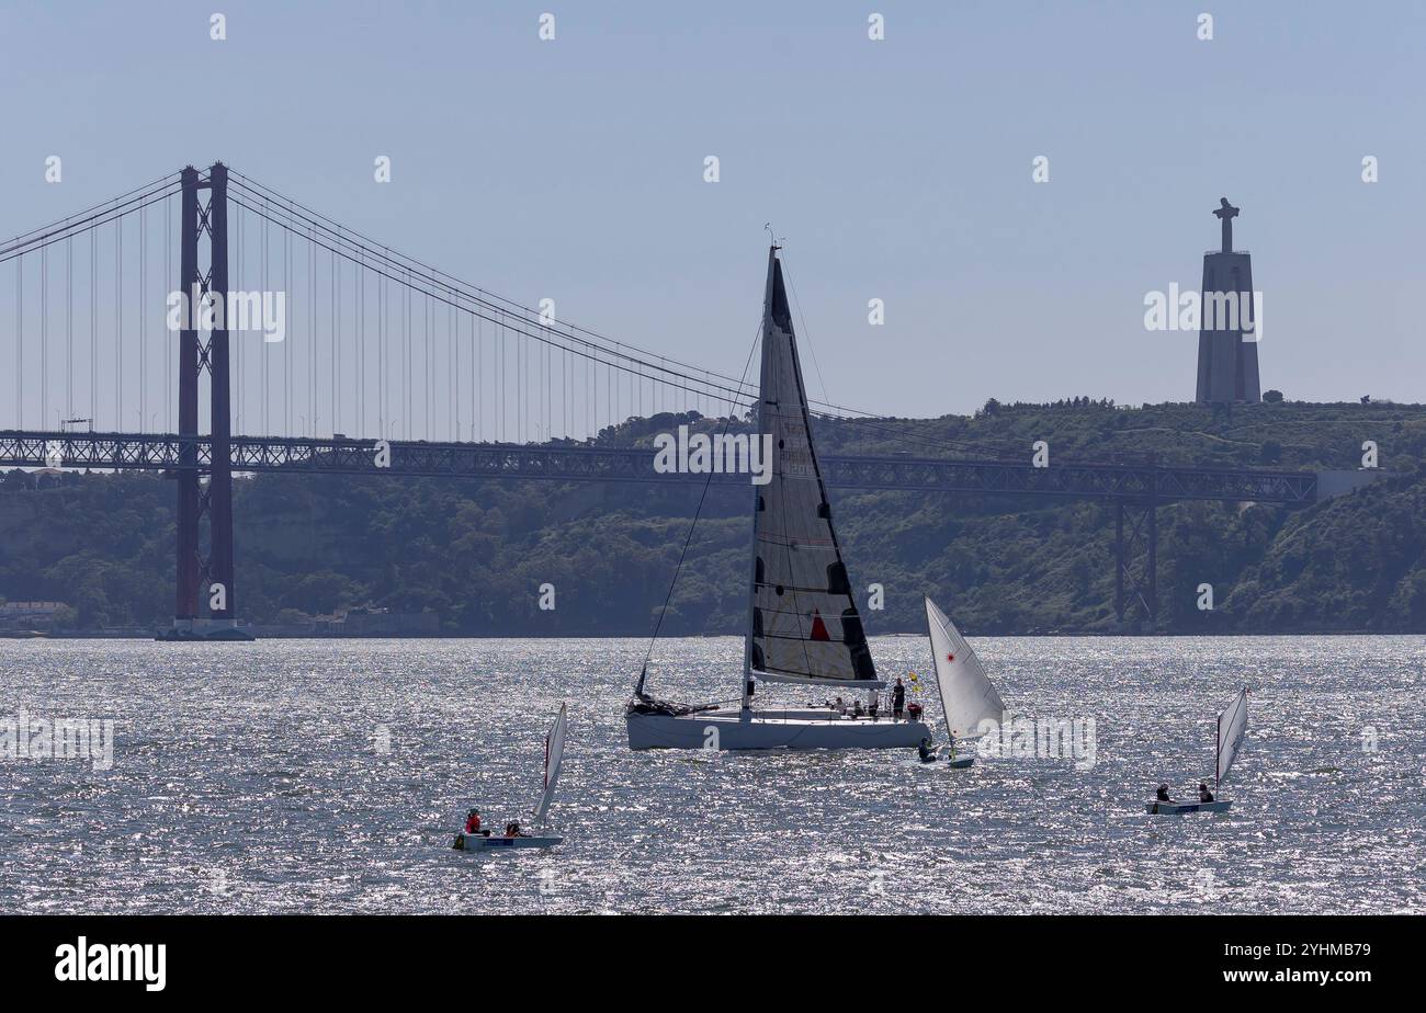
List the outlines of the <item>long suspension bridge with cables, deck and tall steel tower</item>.
{"type": "MultiPolygon", "coordinates": [[[[0,466],[171,477],[178,638],[237,627],[234,473],[704,482],[600,436],[663,413],[737,419],[757,396],[746,376],[493,295],[221,162],[17,235],[0,245],[10,262],[0,362],[14,363],[13,429],[0,430],[0,466]]],[[[876,416],[813,407],[897,436],[876,416]]],[[[1296,507],[1322,493],[1310,472],[1035,467],[1028,453],[823,463],[841,487],[1114,503],[1121,620],[1156,611],[1158,506],[1296,507]]]]}

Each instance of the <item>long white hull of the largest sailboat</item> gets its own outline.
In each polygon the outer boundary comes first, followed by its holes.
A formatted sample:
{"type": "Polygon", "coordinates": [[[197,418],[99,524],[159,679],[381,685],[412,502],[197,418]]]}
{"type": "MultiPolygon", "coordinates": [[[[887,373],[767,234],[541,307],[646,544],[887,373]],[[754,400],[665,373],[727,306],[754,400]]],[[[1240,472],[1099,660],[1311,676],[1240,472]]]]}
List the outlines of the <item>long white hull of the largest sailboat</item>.
{"type": "Polygon", "coordinates": [[[630,749],[914,749],[931,734],[920,721],[841,718],[830,711],[629,714],[625,720],[630,749]]]}

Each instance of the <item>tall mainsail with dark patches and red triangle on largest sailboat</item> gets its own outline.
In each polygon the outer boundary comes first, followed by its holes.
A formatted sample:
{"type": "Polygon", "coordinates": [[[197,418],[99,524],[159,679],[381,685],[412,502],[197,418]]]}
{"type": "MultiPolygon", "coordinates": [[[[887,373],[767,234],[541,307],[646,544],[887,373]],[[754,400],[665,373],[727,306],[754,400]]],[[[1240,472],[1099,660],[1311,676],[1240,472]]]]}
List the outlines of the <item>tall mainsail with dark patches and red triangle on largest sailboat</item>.
{"type": "Polygon", "coordinates": [[[880,685],[811,445],[807,393],[777,246],[767,254],[747,670],[779,682],[880,685]],[[766,437],[766,439],[764,439],[766,437]]]}

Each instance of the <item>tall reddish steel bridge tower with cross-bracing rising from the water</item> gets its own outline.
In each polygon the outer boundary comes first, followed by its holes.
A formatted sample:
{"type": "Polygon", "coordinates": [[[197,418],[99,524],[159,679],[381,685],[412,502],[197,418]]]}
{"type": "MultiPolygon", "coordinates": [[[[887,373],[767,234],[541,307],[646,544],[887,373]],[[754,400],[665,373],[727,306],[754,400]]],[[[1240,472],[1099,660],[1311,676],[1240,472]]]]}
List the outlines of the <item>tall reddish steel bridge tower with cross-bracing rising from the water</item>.
{"type": "Polygon", "coordinates": [[[232,467],[228,396],[228,170],[214,162],[207,178],[193,165],[183,180],[178,291],[187,301],[178,332],[178,563],[174,625],[164,640],[251,640],[237,628],[232,581],[232,467]],[[208,199],[202,201],[201,192],[208,199]],[[208,271],[198,262],[207,237],[208,271]],[[200,328],[208,306],[212,328],[200,328]],[[207,341],[204,341],[204,335],[207,341]],[[198,456],[198,386],[208,375],[208,460],[198,456]],[[202,487],[201,476],[208,476],[202,487]],[[208,554],[200,523],[208,519],[208,554]],[[207,591],[207,596],[204,596],[207,591]],[[207,611],[207,614],[202,614],[207,611]]]}

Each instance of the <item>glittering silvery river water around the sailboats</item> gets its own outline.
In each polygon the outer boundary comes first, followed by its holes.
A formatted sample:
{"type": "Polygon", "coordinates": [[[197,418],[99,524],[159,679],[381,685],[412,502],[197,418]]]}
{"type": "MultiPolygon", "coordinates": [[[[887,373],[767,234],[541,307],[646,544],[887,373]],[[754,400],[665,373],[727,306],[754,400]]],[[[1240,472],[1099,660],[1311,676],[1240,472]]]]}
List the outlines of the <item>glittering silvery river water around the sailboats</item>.
{"type": "MultiPolygon", "coordinates": [[[[975,647],[1014,711],[1095,718],[1092,768],[635,754],[630,640],[0,641],[0,718],[113,718],[117,739],[107,771],[0,761],[0,912],[1426,910],[1426,638],[975,647]],[[1232,811],[1148,816],[1159,779],[1211,772],[1243,681],[1232,811]],[[452,851],[472,804],[528,819],[562,700],[566,843],[452,851]]],[[[923,638],[873,653],[928,661],[923,638]]],[[[656,660],[657,692],[727,697],[742,641],[656,660]]]]}

